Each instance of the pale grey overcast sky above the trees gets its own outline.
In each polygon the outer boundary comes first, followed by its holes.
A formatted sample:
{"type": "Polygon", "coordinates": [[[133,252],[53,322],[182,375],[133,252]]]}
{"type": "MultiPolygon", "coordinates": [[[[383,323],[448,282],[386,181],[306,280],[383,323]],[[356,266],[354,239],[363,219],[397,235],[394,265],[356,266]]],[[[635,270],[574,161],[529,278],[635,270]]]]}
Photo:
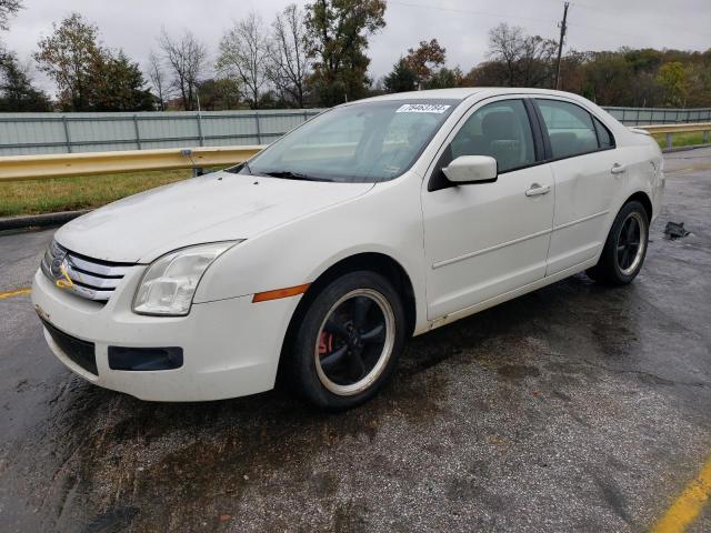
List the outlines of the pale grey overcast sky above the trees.
{"type": "MultiPolygon", "coordinates": [[[[292,0],[24,0],[26,9],[0,36],[27,60],[52,22],[78,11],[99,27],[101,40],[143,64],[161,27],[190,28],[212,52],[223,31],[249,10],[264,21],[292,0]]],[[[297,0],[297,3],[308,3],[297,0]]],[[[499,22],[557,38],[562,0],[388,0],[387,27],[370,41],[371,76],[385,74],[420,40],[437,38],[450,67],[464,71],[482,61],[487,32],[499,22]]],[[[705,50],[711,48],[711,0],[571,1],[567,49],[610,50],[622,46],[705,50]]],[[[36,74],[42,87],[47,80],[36,74]]]]}

